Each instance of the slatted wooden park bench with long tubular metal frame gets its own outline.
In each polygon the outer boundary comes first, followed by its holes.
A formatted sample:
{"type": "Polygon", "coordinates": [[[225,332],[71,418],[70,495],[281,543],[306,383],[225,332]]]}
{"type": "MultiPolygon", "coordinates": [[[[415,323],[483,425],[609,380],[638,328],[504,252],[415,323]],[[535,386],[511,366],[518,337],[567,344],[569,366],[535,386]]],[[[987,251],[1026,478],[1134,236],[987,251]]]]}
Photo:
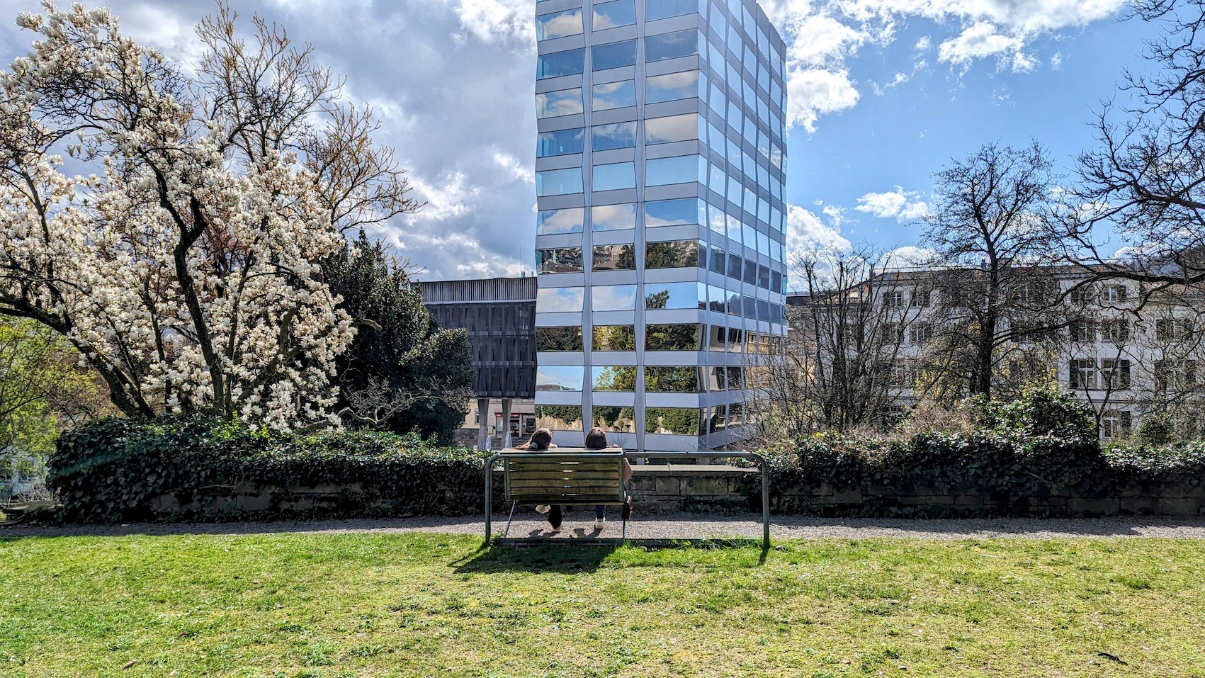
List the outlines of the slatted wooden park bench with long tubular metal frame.
{"type": "MultiPolygon", "coordinates": [[[[611,448],[613,449],[613,448],[611,448]]],[[[493,537],[494,466],[502,462],[506,501],[511,502],[510,517],[502,537],[510,535],[515,508],[518,505],[560,506],[621,506],[628,499],[623,483],[624,452],[558,447],[547,452],[505,450],[486,460],[486,542],[493,537]]],[[[643,459],[750,459],[762,471],[762,548],[770,548],[770,468],[766,460],[754,452],[641,452],[643,459]]],[[[628,537],[628,521],[623,521],[623,540],[628,537]]]]}

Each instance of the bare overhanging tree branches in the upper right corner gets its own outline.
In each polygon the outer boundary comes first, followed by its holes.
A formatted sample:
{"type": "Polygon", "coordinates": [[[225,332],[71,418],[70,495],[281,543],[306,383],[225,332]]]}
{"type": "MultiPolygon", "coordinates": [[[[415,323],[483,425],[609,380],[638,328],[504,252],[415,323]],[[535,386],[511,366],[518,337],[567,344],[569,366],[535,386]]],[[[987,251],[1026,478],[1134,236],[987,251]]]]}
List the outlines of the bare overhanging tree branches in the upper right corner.
{"type": "Polygon", "coordinates": [[[1128,102],[1099,111],[1099,147],[1080,155],[1059,226],[1098,279],[1156,291],[1205,282],[1205,0],[1136,0],[1131,13],[1165,29],[1147,43],[1159,70],[1127,72],[1128,102]],[[1110,231],[1134,246],[1127,257],[1103,250],[1110,231]]]}

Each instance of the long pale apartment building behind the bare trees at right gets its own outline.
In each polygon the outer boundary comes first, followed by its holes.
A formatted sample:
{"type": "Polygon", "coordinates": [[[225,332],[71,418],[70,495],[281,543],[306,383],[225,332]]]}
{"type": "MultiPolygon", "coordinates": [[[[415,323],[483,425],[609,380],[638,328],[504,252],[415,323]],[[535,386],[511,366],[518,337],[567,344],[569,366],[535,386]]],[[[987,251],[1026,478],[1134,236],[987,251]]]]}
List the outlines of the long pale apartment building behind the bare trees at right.
{"type": "Polygon", "coordinates": [[[1169,414],[1183,435],[1205,434],[1205,290],[1099,281],[1093,273],[1078,266],[1011,269],[995,289],[992,318],[983,313],[986,288],[975,282],[983,271],[878,273],[839,295],[793,296],[799,331],[792,341],[827,366],[840,353],[842,369],[857,371],[848,383],[882,423],[924,397],[972,390],[983,369],[993,393],[1062,384],[1092,405],[1103,437],[1128,437],[1156,412],[1169,414]],[[980,367],[974,349],[984,342],[989,362],[980,367]]]}

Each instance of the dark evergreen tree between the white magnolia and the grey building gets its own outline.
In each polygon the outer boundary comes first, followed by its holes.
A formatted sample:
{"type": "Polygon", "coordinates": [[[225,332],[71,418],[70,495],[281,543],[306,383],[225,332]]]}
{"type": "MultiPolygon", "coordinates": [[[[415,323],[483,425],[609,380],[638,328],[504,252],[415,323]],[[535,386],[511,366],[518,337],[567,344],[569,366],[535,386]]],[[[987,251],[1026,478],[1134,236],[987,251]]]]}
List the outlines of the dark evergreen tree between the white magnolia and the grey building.
{"type": "Polygon", "coordinates": [[[323,273],[359,323],[351,348],[335,359],[336,412],[349,425],[451,442],[474,393],[465,331],[440,330],[405,264],[363,232],[323,263],[323,273]]]}

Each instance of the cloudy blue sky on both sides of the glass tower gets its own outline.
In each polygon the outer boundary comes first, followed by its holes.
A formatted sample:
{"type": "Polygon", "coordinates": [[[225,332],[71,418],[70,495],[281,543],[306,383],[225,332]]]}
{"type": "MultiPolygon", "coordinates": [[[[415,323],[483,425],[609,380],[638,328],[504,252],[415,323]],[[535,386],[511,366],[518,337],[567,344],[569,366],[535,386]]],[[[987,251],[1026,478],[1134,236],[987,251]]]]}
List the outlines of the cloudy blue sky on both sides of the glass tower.
{"type": "MultiPolygon", "coordinates": [[[[92,5],[96,2],[87,2],[92,5]]],[[[186,71],[213,5],[108,0],[123,30],[186,71]]],[[[531,271],[534,0],[261,0],[369,102],[427,207],[377,234],[422,279],[531,271]]],[[[923,246],[931,175],[986,141],[1046,145],[1072,169],[1086,124],[1154,29],[1124,0],[763,0],[788,40],[788,246],[923,246]]],[[[0,61],[29,48],[0,0],[0,61]]],[[[248,28],[249,22],[243,22],[248,28]]]]}

